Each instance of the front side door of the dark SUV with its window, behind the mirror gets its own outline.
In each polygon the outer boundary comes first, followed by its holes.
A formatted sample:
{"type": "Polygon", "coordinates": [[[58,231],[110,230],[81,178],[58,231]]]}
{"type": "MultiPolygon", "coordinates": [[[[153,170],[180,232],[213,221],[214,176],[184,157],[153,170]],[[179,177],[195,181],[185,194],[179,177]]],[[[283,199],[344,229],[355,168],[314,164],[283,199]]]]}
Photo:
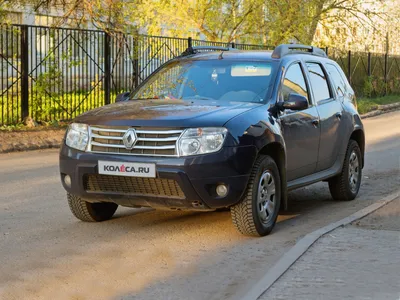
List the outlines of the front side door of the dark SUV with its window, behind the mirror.
{"type": "Polygon", "coordinates": [[[307,97],[309,107],[302,111],[285,110],[280,116],[286,143],[287,180],[312,174],[317,166],[320,126],[300,62],[291,64],[285,74],[280,97],[287,101],[290,93],[307,97]]]}

